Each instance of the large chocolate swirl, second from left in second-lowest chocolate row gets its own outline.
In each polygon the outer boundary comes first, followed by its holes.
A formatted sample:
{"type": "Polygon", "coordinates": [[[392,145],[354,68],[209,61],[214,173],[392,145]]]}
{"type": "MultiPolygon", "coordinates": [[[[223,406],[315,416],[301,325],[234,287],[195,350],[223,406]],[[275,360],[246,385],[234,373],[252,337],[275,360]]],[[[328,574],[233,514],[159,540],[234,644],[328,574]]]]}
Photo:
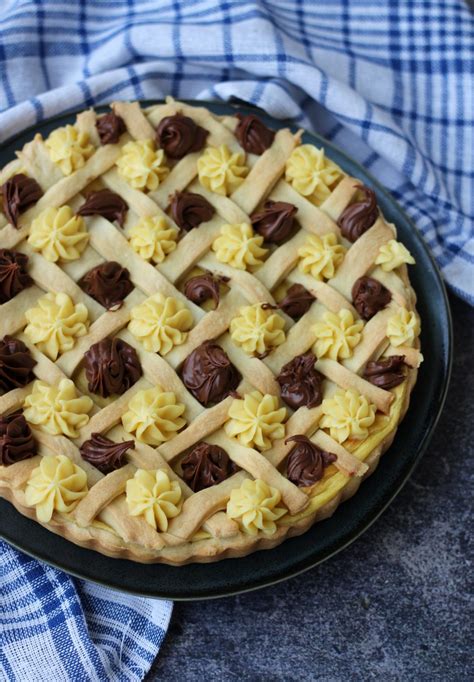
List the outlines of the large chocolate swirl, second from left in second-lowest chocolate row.
{"type": "Polygon", "coordinates": [[[136,350],[122,339],[103,339],[84,353],[89,391],[103,398],[125,393],[142,375],[136,350]]]}

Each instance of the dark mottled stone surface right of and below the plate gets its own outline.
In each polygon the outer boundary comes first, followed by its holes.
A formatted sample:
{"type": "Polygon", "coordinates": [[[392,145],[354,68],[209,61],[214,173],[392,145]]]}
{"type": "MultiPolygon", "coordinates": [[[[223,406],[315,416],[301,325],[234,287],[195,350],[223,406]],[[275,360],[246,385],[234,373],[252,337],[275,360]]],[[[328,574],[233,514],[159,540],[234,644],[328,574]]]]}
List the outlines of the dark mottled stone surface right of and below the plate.
{"type": "Polygon", "coordinates": [[[149,680],[474,678],[474,310],[451,303],[447,404],[391,507],[350,547],[301,576],[237,597],[177,603],[149,680]]]}

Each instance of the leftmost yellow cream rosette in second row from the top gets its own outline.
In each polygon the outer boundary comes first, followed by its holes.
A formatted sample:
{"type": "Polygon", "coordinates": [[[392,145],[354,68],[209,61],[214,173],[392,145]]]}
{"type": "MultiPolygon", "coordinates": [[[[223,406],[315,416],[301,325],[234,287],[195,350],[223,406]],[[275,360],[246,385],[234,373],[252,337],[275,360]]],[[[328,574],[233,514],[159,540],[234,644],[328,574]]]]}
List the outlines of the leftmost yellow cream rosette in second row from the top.
{"type": "Polygon", "coordinates": [[[86,224],[70,206],[46,208],[33,220],[28,244],[46,260],[72,261],[81,257],[89,241],[86,224]]]}

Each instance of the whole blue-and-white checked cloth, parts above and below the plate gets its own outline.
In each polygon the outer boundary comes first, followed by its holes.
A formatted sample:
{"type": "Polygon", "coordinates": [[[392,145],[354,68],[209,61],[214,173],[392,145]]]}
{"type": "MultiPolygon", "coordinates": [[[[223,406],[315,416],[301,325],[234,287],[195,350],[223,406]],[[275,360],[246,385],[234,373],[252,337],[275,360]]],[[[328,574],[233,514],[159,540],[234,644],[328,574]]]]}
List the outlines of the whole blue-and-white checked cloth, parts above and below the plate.
{"type": "MultiPolygon", "coordinates": [[[[473,45],[461,0],[1,0],[0,141],[114,99],[251,102],[366,166],[474,302],[473,45]]],[[[169,605],[1,549],[7,679],[144,674],[169,605]]]]}

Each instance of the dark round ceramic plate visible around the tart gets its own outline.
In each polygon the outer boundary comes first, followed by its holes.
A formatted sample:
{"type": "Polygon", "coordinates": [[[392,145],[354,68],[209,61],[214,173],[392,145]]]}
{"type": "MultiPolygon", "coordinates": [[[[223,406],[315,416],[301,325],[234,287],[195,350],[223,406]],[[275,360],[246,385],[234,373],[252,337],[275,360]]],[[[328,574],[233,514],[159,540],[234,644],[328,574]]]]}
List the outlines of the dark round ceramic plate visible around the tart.
{"type": "MultiPolygon", "coordinates": [[[[229,104],[206,105],[216,114],[234,111],[229,104]]],[[[249,110],[245,106],[238,109],[249,110]]],[[[283,125],[263,112],[259,115],[273,128],[283,125]]],[[[0,150],[0,167],[10,161],[15,149],[21,148],[35,132],[46,136],[58,126],[73,123],[74,116],[71,113],[51,119],[4,144],[0,150]]],[[[324,146],[328,156],[341,168],[375,190],[385,217],[395,223],[401,241],[416,259],[410,276],[418,297],[425,361],[408,414],[375,473],[332,518],[317,523],[304,535],[286,540],[275,549],[255,552],[242,559],[189,564],[180,568],[110,559],[67,542],[0,500],[0,536],[5,540],[68,573],[119,590],[170,599],[206,599],[264,587],[316,566],[367,530],[401,490],[428,447],[448,388],[452,329],[446,291],[438,268],[414,224],[386,190],[330,142],[312,133],[305,133],[304,141],[324,146]]]]}

